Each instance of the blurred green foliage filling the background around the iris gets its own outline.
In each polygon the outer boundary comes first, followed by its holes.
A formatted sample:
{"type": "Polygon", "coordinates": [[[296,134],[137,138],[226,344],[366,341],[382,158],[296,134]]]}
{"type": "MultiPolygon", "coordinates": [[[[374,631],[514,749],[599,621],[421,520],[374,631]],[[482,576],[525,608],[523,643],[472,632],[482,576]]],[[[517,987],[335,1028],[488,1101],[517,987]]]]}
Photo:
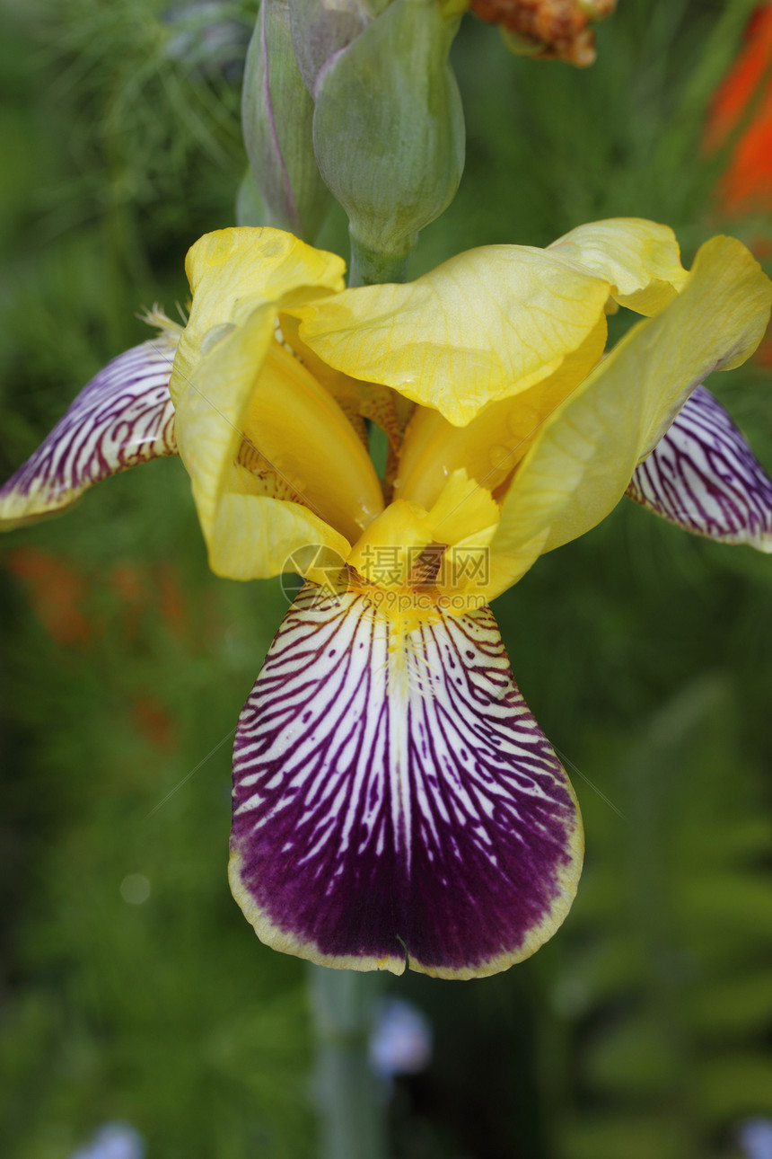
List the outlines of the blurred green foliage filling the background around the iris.
{"type": "MultiPolygon", "coordinates": [[[[751,7],[626,0],[586,72],[466,19],[466,172],[414,272],[604,216],[668,221],[686,258],[720,229],[769,238],[721,218],[726,155],[701,145],[751,7]]],[[[185,249],[231,223],[252,17],[3,10],[3,474],[145,336],[141,305],[184,302],[185,249]]],[[[341,213],[322,240],[345,253],[341,213]]],[[[772,467],[765,385],[752,365],[712,382],[772,467]]],[[[123,1118],[148,1159],[310,1157],[303,969],[256,941],[225,874],[229,738],[279,585],[208,574],[176,460],[3,540],[0,584],[3,1156],[61,1159],[123,1118]]],[[[397,1159],[729,1159],[737,1123],[772,1115],[771,596],[766,557],[623,503],[497,603],[574,770],[587,870],[531,962],[391,982],[435,1026],[392,1100],[397,1159]]]]}

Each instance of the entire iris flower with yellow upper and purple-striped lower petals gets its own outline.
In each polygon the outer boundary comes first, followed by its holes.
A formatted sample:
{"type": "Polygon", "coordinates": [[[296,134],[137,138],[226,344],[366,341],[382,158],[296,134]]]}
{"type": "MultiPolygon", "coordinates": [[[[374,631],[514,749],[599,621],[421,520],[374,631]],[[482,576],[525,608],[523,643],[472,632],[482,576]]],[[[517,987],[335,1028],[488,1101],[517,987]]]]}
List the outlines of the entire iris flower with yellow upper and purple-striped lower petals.
{"type": "Polygon", "coordinates": [[[325,965],[502,970],[565,918],[576,799],[488,604],[627,491],[772,549],[772,484],[701,386],[771,286],[729,238],[582,226],[405,285],[275,229],[188,255],[190,319],[115,359],[0,491],[6,526],[179,454],[211,566],[307,580],[238,721],[230,880],[260,939],[325,965]],[[604,353],[606,314],[645,315],[604,353]],[[381,475],[368,453],[381,431],[381,475]]]}

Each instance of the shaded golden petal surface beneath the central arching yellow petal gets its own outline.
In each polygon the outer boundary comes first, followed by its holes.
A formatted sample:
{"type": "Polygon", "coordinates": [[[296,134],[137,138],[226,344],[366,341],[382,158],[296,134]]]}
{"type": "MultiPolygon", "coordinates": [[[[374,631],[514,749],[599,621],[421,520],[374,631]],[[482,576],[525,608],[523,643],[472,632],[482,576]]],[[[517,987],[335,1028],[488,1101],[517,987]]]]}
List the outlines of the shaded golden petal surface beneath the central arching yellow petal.
{"type": "Polygon", "coordinates": [[[495,490],[523,458],[545,418],[600,360],[605,335],[601,315],[554,374],[513,399],[488,403],[468,427],[454,427],[436,410],[419,407],[405,432],[395,495],[431,506],[458,469],[495,490]]]}

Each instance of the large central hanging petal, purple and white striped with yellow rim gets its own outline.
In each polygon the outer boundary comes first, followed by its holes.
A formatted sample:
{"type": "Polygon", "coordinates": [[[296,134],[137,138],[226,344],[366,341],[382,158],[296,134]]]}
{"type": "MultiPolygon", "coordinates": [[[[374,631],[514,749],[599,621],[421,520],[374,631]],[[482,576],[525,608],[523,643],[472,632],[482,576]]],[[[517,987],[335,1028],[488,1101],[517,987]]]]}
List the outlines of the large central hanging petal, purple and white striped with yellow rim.
{"type": "Polygon", "coordinates": [[[242,712],[230,884],[275,949],[485,976],[573,901],[582,828],[490,608],[398,634],[306,586],[242,712]]]}

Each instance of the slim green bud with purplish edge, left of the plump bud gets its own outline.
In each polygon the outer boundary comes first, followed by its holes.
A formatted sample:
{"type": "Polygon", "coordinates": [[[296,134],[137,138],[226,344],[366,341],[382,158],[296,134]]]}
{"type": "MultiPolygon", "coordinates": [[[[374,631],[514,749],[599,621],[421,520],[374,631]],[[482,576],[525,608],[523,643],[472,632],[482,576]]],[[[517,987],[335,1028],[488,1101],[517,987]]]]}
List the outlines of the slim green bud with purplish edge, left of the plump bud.
{"type": "Polygon", "coordinates": [[[247,53],[242,131],[263,224],[314,241],[330,204],[314,156],[314,102],[295,60],[288,0],[263,0],[247,53]]]}

